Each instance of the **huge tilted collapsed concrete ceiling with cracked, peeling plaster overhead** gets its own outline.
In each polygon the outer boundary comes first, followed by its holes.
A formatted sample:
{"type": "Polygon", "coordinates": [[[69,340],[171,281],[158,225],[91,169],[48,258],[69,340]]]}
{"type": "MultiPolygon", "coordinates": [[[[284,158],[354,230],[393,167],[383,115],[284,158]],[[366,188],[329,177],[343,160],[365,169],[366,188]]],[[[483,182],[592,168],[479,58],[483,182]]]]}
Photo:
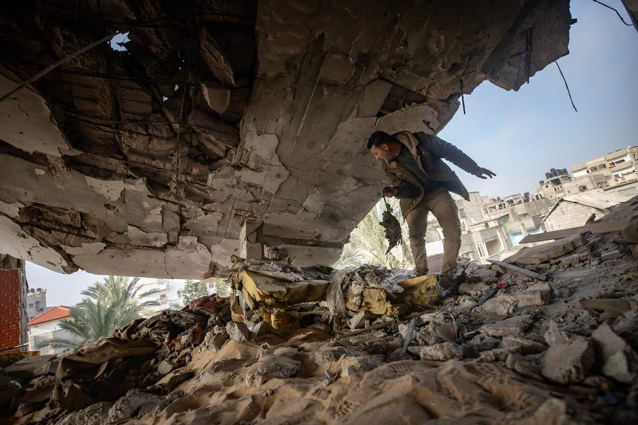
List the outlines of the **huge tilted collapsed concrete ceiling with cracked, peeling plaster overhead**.
{"type": "MultiPolygon", "coordinates": [[[[568,53],[568,0],[15,2],[0,17],[0,251],[223,275],[245,220],[332,264],[378,200],[376,130],[437,133],[568,53]]],[[[459,141],[455,141],[460,144],[459,141]]]]}

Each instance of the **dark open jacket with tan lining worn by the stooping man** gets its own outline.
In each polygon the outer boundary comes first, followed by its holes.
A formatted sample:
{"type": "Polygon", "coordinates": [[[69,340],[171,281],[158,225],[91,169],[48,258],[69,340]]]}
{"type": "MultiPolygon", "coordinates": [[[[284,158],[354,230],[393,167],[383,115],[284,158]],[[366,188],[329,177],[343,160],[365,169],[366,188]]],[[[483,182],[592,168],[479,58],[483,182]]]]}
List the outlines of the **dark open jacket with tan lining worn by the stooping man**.
{"type": "MultiPolygon", "coordinates": [[[[452,168],[441,160],[441,158],[445,158],[468,173],[476,172],[479,169],[479,165],[464,154],[461,149],[439,137],[422,131],[419,133],[401,131],[393,136],[410,150],[417,165],[427,177],[444,182],[447,190],[461,195],[466,200],[470,200],[470,194],[461,183],[459,177],[452,171],[452,168]]],[[[419,204],[424,195],[424,188],[419,179],[397,161],[384,162],[383,171],[389,177],[390,184],[399,189],[396,197],[401,199],[399,202],[401,212],[403,217],[406,217],[419,204]]]]}

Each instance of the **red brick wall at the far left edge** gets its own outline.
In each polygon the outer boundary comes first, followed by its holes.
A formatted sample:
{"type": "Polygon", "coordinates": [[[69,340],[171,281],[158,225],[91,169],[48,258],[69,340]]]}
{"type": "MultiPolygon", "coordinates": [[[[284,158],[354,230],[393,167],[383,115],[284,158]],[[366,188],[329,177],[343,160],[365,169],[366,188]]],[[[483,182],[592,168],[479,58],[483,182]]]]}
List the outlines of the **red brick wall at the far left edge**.
{"type": "Polygon", "coordinates": [[[26,297],[24,269],[0,269],[0,350],[28,341],[26,297]]]}

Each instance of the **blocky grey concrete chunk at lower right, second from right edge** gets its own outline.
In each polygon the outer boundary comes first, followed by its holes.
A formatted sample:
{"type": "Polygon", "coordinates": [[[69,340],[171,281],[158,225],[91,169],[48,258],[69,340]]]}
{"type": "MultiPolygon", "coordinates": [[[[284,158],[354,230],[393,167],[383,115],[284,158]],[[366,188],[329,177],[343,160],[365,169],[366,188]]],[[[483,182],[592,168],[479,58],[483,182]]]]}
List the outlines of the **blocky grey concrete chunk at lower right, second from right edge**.
{"type": "Polygon", "coordinates": [[[568,343],[554,343],[542,359],[541,374],[557,384],[574,384],[586,377],[594,362],[593,343],[581,336],[568,343]]]}

